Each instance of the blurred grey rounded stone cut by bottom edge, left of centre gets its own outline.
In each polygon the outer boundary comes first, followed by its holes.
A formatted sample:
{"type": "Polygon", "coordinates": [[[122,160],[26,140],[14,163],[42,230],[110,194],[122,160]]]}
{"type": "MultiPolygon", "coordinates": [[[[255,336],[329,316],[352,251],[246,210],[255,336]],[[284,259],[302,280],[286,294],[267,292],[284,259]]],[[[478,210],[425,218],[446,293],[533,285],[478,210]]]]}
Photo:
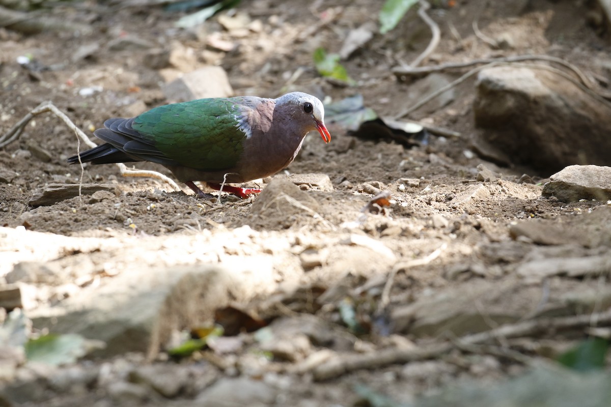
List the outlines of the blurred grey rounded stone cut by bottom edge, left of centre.
{"type": "Polygon", "coordinates": [[[197,397],[197,406],[269,406],[276,400],[277,392],[264,381],[247,377],[221,378],[197,397]]]}

